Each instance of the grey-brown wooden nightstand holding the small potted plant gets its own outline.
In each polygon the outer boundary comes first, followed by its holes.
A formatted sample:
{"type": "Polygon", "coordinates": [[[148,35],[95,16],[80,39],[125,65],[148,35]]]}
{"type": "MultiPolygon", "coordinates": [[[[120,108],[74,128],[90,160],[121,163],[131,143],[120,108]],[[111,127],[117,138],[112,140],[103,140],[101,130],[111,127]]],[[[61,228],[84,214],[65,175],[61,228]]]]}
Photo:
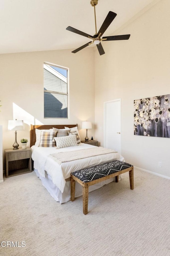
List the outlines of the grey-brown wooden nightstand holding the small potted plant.
{"type": "Polygon", "coordinates": [[[5,176],[12,177],[32,172],[31,148],[5,149],[5,176]]]}

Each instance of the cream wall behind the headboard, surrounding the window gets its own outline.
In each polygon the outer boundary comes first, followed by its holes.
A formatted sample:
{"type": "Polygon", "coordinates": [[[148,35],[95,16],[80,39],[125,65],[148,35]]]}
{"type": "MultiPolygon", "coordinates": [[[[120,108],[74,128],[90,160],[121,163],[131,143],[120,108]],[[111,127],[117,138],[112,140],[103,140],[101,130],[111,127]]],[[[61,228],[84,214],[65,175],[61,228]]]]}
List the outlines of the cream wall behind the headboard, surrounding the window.
{"type": "MultiPolygon", "coordinates": [[[[84,49],[77,54],[71,50],[26,52],[0,55],[1,112],[3,152],[12,148],[14,131],[7,131],[8,120],[24,120],[25,130],[17,132],[29,140],[30,124],[76,124],[82,140],[86,130],[82,121],[94,124],[94,50],[84,49]],[[69,68],[69,119],[44,119],[43,64],[50,62],[69,68]]],[[[88,136],[94,136],[94,129],[88,136]]],[[[29,143],[28,143],[29,145],[29,143]]],[[[21,146],[21,144],[20,144],[21,146]]]]}

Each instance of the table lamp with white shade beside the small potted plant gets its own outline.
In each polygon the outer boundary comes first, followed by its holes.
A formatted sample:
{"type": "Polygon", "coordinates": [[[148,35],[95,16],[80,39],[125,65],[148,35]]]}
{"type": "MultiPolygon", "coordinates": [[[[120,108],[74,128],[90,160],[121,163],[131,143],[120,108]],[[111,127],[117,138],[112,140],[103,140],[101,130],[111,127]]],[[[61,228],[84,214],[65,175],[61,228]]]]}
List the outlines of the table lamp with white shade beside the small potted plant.
{"type": "Polygon", "coordinates": [[[15,142],[12,145],[13,149],[18,149],[19,144],[16,141],[16,131],[24,130],[23,120],[8,120],[8,131],[15,131],[15,142]]]}

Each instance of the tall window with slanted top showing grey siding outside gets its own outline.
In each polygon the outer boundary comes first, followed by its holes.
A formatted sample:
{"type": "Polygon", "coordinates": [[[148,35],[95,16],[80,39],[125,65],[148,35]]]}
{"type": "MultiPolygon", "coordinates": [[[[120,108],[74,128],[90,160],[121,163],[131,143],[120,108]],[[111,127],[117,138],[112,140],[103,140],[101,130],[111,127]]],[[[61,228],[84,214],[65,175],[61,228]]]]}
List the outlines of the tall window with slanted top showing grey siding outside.
{"type": "Polygon", "coordinates": [[[68,118],[68,70],[44,64],[44,118],[68,118]]]}

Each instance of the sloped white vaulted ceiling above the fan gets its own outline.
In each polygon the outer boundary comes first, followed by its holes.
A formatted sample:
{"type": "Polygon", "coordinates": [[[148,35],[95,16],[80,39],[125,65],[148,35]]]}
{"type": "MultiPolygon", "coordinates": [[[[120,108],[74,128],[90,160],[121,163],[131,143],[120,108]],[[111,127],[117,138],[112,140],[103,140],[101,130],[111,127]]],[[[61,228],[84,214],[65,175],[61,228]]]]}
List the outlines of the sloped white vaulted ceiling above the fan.
{"type": "MultiPolygon", "coordinates": [[[[98,0],[97,30],[113,11],[117,16],[103,36],[116,35],[119,28],[159,1],[98,0]]],[[[95,34],[90,0],[0,0],[0,54],[74,49],[88,42],[86,37],[67,31],[68,26],[95,34]]]]}

